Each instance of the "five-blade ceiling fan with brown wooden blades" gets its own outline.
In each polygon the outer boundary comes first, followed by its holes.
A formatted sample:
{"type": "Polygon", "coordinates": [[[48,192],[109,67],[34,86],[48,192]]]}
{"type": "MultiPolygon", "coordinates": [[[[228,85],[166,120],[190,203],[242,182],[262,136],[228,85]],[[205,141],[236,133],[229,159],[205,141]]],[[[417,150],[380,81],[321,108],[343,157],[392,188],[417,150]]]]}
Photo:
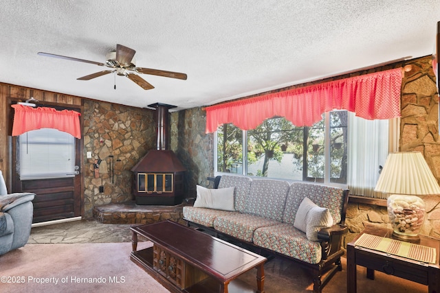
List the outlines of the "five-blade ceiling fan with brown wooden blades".
{"type": "MultiPolygon", "coordinates": [[[[164,71],[159,69],[149,69],[143,67],[136,67],[135,60],[133,57],[135,56],[136,51],[130,49],[129,47],[125,47],[123,45],[116,45],[116,51],[111,51],[107,54],[107,61],[105,63],[95,62],[90,60],[78,59],[73,57],[61,56],[56,54],[39,52],[37,54],[41,56],[61,58],[66,60],[78,61],[90,63],[98,66],[105,66],[111,69],[99,71],[96,73],[91,73],[89,75],[85,75],[82,78],[77,78],[77,80],[91,80],[92,78],[98,78],[102,75],[106,75],[109,73],[117,73],[118,75],[126,76],[133,82],[135,82],[138,86],[142,87],[142,89],[154,89],[154,86],[150,83],[146,82],[143,78],[141,78],[136,73],[150,74],[150,75],[158,75],[164,76],[166,78],[177,78],[179,80],[186,80],[185,73],[173,72],[173,71],[164,71]]],[[[116,89],[116,86],[115,86],[116,89]]]]}

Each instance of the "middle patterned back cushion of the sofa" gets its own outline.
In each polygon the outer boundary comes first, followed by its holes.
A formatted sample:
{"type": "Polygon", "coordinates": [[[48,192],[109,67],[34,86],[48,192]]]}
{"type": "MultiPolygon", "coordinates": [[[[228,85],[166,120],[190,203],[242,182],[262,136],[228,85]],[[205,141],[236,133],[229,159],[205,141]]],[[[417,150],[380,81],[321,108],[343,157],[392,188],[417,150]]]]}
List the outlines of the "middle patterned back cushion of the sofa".
{"type": "Polygon", "coordinates": [[[281,221],[289,191],[282,180],[254,179],[246,201],[246,213],[281,221]]]}

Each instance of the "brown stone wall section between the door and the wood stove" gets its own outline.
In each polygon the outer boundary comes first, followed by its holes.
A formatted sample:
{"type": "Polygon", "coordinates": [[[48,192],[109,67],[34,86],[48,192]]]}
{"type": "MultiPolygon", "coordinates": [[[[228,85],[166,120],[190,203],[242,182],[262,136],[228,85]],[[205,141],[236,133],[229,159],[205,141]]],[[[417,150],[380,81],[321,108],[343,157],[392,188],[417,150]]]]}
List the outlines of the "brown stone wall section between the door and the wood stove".
{"type": "Polygon", "coordinates": [[[154,148],[155,128],[152,110],[106,102],[85,100],[83,116],[85,217],[90,218],[95,206],[133,199],[130,170],[154,148]],[[91,159],[87,159],[87,152],[91,152],[91,159]],[[102,161],[95,178],[94,159],[98,158],[102,161]]]}

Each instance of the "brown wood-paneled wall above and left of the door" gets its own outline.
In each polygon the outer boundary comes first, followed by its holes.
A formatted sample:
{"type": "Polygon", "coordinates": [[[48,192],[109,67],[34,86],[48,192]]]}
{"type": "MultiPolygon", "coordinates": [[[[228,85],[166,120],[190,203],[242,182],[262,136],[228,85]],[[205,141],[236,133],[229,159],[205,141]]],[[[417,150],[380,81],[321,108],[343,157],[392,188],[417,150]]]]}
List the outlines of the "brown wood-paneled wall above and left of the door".
{"type": "MultiPolygon", "coordinates": [[[[40,102],[44,102],[44,104],[60,106],[81,106],[83,103],[83,97],[0,83],[0,170],[3,172],[7,184],[10,182],[8,136],[10,136],[12,132],[12,113],[10,104],[12,101],[25,102],[31,97],[38,99],[40,102]]],[[[8,186],[8,188],[10,188],[10,186],[8,186]]]]}

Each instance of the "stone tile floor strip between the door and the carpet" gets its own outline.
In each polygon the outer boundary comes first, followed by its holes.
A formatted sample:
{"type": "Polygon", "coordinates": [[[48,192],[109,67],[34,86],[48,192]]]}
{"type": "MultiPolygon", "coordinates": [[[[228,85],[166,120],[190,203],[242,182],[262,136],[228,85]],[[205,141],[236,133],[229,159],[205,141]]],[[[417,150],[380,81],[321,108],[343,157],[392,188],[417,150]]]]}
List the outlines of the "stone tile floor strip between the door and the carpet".
{"type": "Polygon", "coordinates": [[[96,220],[78,220],[32,228],[28,243],[112,243],[131,242],[134,224],[102,224],[96,220]]]}

